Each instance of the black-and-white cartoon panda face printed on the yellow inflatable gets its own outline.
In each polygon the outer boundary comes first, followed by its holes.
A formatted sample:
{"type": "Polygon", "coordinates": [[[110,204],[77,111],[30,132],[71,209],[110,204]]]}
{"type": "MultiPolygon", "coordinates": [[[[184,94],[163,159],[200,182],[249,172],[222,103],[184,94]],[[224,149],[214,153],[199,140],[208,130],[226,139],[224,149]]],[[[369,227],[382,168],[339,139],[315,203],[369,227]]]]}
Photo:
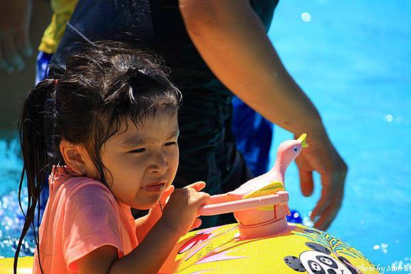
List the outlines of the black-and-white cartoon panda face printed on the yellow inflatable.
{"type": "Polygon", "coordinates": [[[353,269],[347,259],[338,258],[342,262],[336,260],[332,256],[327,247],[323,247],[315,242],[306,242],[309,251],[303,251],[299,258],[295,256],[286,256],[284,262],[293,270],[298,272],[308,272],[310,274],[358,274],[356,269],[353,269]]]}

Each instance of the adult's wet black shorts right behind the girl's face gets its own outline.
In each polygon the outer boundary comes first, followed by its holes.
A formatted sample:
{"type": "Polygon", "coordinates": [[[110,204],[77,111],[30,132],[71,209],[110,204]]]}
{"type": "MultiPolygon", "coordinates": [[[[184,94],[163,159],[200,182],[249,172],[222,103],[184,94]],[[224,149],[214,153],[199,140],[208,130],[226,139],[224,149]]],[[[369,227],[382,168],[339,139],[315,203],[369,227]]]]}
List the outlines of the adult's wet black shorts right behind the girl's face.
{"type": "MultiPolygon", "coordinates": [[[[231,132],[232,96],[211,90],[182,90],[179,112],[177,188],[206,182],[210,195],[229,192],[251,179],[231,132]]],[[[235,223],[233,214],[202,217],[203,227],[235,223]]]]}

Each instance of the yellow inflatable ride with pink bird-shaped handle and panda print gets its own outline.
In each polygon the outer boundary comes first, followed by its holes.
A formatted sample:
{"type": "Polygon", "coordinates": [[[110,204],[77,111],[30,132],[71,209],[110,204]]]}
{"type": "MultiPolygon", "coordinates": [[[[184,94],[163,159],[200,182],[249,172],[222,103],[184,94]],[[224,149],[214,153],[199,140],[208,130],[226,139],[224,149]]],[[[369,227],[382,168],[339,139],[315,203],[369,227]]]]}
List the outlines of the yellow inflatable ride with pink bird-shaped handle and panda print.
{"type": "MultiPolygon", "coordinates": [[[[319,229],[287,223],[284,173],[306,144],[306,134],[279,145],[273,169],[232,192],[215,195],[201,215],[234,212],[238,223],[189,232],[159,273],[378,273],[360,251],[319,229]]],[[[33,258],[18,260],[18,273],[31,273],[33,258]]],[[[12,273],[13,259],[0,260],[12,273]]]]}

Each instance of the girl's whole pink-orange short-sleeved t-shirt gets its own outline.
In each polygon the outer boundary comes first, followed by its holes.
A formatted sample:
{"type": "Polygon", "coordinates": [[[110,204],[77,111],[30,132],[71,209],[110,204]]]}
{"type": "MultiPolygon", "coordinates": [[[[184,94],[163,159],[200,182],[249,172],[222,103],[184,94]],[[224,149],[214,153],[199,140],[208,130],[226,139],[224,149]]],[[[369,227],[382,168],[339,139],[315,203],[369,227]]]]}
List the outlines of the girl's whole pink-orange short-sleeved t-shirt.
{"type": "MultiPolygon", "coordinates": [[[[95,179],[58,174],[49,177],[50,197],[40,225],[43,273],[77,273],[77,260],[103,245],[116,247],[119,257],[138,245],[129,206],[95,179]]],[[[37,251],[33,273],[41,273],[37,251]]]]}

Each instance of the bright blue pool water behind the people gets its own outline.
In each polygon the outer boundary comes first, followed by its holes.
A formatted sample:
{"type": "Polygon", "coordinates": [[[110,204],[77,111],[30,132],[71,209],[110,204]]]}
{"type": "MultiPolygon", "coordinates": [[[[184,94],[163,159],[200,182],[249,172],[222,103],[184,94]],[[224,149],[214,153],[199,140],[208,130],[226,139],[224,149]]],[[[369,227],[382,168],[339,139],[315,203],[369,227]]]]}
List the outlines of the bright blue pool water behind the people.
{"type": "MultiPolygon", "coordinates": [[[[385,273],[411,264],[410,14],[405,0],[283,0],[269,31],[349,165],[343,207],[329,232],[385,273]]],[[[276,127],[271,154],[288,138],[276,127]]],[[[0,140],[0,256],[13,256],[22,223],[16,210],[21,164],[16,139],[0,140]]],[[[314,195],[306,198],[296,167],[286,175],[290,206],[306,219],[320,195],[315,179],[314,195]]],[[[29,244],[23,254],[32,251],[29,244]]]]}

